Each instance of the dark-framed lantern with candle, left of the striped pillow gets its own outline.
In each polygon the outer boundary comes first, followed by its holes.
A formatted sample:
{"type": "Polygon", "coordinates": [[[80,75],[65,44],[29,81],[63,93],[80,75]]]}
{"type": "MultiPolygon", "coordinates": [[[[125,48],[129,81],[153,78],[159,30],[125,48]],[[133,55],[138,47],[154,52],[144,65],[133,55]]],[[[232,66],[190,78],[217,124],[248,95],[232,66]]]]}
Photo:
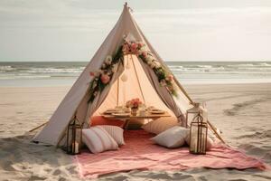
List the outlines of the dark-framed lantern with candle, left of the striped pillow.
{"type": "Polygon", "coordinates": [[[82,125],[76,116],[74,116],[74,119],[71,120],[67,130],[67,153],[70,155],[80,154],[81,143],[82,125]]]}

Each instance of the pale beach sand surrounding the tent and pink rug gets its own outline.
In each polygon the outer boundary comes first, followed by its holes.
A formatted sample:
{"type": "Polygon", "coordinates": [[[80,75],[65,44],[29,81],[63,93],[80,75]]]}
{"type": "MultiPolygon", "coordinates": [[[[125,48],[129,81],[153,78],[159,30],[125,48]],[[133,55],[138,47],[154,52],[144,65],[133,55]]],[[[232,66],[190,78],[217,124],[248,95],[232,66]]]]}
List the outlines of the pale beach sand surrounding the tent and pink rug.
{"type": "MultiPolygon", "coordinates": [[[[231,146],[271,164],[271,84],[185,85],[205,101],[210,121],[231,146]]],[[[28,130],[51,117],[69,87],[0,88],[0,180],[82,180],[72,157],[30,142],[28,130]]],[[[197,168],[132,171],[101,180],[270,180],[271,172],[197,168]]]]}

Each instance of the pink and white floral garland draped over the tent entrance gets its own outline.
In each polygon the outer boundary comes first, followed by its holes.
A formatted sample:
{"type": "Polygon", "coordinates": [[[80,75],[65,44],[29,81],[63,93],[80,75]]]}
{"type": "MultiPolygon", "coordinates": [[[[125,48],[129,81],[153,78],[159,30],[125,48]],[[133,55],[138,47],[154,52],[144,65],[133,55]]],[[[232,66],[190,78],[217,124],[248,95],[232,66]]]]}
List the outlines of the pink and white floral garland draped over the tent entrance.
{"type": "Polygon", "coordinates": [[[173,84],[173,74],[166,71],[161,63],[154,58],[152,52],[147,50],[145,43],[127,41],[125,37],[124,42],[118,47],[114,56],[108,55],[98,71],[89,72],[89,75],[94,77],[89,83],[89,101],[93,101],[98,92],[101,92],[111,81],[113,74],[117,72],[117,63],[123,62],[125,54],[135,54],[142,59],[154,71],[160,85],[164,86],[174,96],[177,96],[173,84]]]}

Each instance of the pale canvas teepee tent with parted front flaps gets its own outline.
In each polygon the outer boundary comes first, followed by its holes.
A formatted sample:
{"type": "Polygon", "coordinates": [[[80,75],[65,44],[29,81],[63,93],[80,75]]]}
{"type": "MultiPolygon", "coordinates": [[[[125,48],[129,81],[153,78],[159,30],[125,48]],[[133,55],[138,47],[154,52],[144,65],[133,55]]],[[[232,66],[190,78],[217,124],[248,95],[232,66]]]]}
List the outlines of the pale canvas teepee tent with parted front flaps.
{"type": "Polygon", "coordinates": [[[113,30],[107,35],[106,40],[95,53],[92,60],[80,74],[78,80],[71,87],[68,94],[61,101],[60,106],[51,116],[50,121],[34,138],[33,141],[59,146],[65,142],[65,134],[70,120],[76,113],[84,127],[89,126],[89,118],[102,110],[123,104],[126,100],[138,97],[146,104],[170,111],[182,126],[185,122],[186,110],[192,108],[192,100],[189,98],[181,84],[174,79],[177,97],[160,85],[154,71],[140,58],[133,54],[124,56],[124,62],[117,64],[117,72],[114,73],[106,88],[98,93],[91,102],[89,100],[89,82],[92,77],[89,71],[97,71],[108,54],[114,54],[124,35],[145,43],[146,48],[152,52],[154,58],[161,63],[166,71],[170,71],[161,57],[154,51],[152,45],[146,40],[145,35],[135,23],[129,7],[124,5],[122,14],[113,30]],[[127,81],[122,81],[127,76],[127,81]],[[61,141],[62,140],[62,141],[61,141]]]}

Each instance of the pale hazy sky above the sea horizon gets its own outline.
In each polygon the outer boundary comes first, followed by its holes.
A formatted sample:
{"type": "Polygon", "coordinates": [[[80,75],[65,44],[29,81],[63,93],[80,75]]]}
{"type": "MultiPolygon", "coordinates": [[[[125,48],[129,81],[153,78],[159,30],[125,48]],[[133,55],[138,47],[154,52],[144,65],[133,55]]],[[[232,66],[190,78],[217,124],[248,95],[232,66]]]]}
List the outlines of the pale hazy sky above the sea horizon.
{"type": "MultiPolygon", "coordinates": [[[[0,0],[0,62],[89,61],[120,0],[0,0]]],[[[271,61],[270,0],[134,0],[165,61],[271,61]]]]}

